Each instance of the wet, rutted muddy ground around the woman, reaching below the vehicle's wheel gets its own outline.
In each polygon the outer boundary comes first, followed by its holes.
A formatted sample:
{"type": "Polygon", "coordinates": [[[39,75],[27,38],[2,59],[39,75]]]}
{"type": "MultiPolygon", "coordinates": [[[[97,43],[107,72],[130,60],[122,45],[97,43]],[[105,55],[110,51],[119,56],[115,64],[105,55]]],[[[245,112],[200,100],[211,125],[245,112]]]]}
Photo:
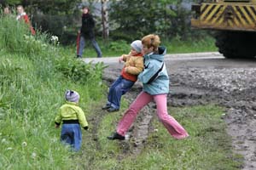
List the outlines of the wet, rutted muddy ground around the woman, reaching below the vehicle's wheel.
{"type": "MultiPolygon", "coordinates": [[[[227,123],[227,133],[232,136],[234,150],[244,156],[242,169],[256,169],[256,60],[193,57],[166,59],[171,79],[168,105],[214,103],[226,107],[227,112],[223,117],[227,123]]],[[[119,76],[122,65],[118,62],[108,65],[104,80],[111,84],[119,76]]],[[[141,89],[142,85],[137,82],[125,94],[125,99],[132,101],[141,89]]],[[[131,150],[131,153],[136,154],[143,148],[143,142],[152,130],[152,108],[154,104],[148,105],[137,117],[129,133],[132,140],[123,143],[124,148],[131,150]]]]}

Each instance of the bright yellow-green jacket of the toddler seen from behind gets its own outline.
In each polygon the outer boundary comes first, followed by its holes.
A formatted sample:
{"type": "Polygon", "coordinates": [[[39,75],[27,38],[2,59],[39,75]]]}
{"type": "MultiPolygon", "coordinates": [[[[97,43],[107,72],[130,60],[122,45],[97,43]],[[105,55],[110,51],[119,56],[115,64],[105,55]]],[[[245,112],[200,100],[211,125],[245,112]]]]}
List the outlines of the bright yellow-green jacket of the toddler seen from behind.
{"type": "Polygon", "coordinates": [[[55,123],[61,124],[62,121],[79,120],[81,127],[88,127],[88,122],[84,116],[84,111],[74,102],[61,105],[61,109],[55,117],[55,123]]]}

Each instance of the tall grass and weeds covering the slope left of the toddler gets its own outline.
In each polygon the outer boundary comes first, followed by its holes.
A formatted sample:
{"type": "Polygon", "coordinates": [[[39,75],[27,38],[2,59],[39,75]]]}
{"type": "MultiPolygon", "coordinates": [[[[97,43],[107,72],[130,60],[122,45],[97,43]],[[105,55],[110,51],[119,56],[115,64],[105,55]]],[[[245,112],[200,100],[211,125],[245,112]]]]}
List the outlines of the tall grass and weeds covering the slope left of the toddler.
{"type": "Polygon", "coordinates": [[[73,74],[77,77],[81,75],[82,61],[68,58],[58,47],[56,37],[51,38],[53,42],[49,36],[40,36],[40,32],[32,37],[26,27],[3,16],[0,23],[0,167],[70,169],[72,153],[59,141],[61,132],[54,128],[55,114],[64,103],[67,88],[79,92],[82,108],[101,99],[105,89],[103,68],[86,65],[91,72],[82,75],[78,83],[58,69],[67,66],[63,58],[69,59],[78,70],[73,74]],[[14,31],[14,35],[7,33],[2,39],[7,28],[14,31]],[[25,49],[20,49],[21,42],[25,43],[21,46],[25,49]]]}

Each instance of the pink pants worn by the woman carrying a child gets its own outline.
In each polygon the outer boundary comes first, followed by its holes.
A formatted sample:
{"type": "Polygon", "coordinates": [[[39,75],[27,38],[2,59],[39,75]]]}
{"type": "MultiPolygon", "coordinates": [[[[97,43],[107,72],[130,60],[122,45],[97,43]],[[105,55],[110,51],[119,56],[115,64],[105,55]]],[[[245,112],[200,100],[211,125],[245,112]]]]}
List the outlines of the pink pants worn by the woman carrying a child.
{"type": "Polygon", "coordinates": [[[168,115],[166,94],[150,95],[145,92],[139,94],[137,99],[132,102],[129,109],[125,111],[125,115],[118,124],[117,133],[125,136],[125,133],[128,131],[129,127],[131,127],[131,123],[134,122],[137,113],[153,99],[157,105],[157,116],[172,137],[175,139],[183,139],[188,137],[189,134],[186,132],[186,130],[172,116],[168,115]]]}

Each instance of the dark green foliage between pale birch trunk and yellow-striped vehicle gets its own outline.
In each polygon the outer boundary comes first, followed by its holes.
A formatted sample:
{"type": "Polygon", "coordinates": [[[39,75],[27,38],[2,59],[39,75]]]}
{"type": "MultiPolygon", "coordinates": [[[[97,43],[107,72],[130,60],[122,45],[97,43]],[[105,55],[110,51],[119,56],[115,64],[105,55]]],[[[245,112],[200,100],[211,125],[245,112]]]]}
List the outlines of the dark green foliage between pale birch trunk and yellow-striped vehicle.
{"type": "Polygon", "coordinates": [[[190,10],[183,0],[138,0],[113,1],[110,20],[114,39],[141,38],[149,33],[163,35],[172,39],[179,36],[183,40],[197,37],[197,31],[190,28],[190,10]]]}

